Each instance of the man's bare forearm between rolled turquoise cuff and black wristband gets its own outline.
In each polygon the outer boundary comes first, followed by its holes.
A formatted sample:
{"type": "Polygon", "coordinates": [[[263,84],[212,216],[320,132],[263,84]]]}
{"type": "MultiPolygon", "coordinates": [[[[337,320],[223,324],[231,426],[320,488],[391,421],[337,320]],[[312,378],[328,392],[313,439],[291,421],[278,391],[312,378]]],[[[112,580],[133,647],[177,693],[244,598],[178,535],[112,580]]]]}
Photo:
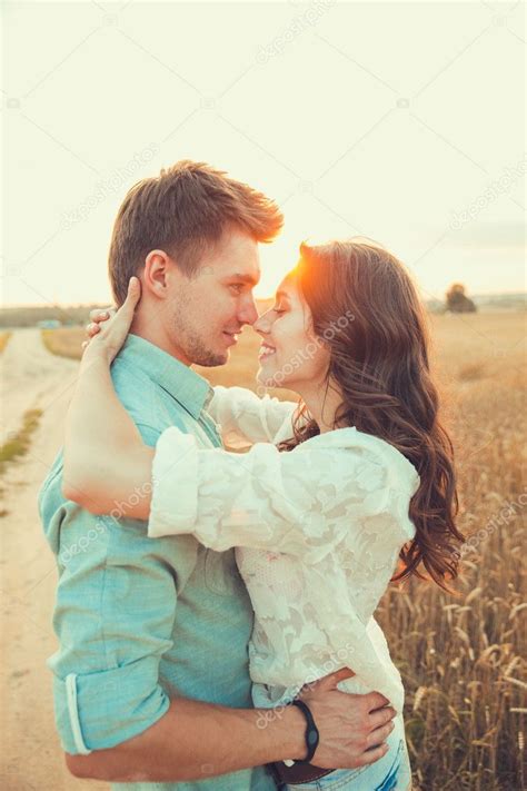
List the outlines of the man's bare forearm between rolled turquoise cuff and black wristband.
{"type": "Polygon", "coordinates": [[[270,712],[176,699],[140,735],[89,755],[67,755],[67,763],[76,777],[113,782],[205,780],[304,758],[304,733],[296,706],[270,712]]]}

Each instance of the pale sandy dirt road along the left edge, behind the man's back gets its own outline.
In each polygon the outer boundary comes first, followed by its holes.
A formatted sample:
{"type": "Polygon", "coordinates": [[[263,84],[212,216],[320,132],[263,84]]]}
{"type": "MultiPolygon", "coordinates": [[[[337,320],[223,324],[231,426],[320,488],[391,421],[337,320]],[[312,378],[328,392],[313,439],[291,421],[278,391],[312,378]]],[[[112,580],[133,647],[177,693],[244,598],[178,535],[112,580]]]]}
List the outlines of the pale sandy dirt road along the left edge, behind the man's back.
{"type": "Polygon", "coordinates": [[[57,572],[37,512],[37,493],[62,443],[63,417],[78,364],[43,347],[37,329],[14,330],[0,357],[1,436],[20,428],[27,409],[42,409],[31,447],[8,465],[1,520],[2,791],[106,791],[72,778],[54,731],[51,627],[57,572]]]}

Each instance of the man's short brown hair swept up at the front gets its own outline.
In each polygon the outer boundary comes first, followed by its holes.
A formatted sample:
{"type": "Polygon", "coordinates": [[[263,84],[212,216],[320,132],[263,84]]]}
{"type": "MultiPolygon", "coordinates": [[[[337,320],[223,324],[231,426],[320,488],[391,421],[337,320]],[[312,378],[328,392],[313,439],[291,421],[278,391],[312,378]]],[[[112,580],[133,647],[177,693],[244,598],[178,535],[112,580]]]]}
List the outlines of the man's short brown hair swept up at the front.
{"type": "Polygon", "coordinates": [[[284,224],[274,200],[205,162],[183,159],[136,184],[113,225],[108,270],[122,305],[150,250],[167,253],[189,277],[230,228],[271,241],[284,224]]]}

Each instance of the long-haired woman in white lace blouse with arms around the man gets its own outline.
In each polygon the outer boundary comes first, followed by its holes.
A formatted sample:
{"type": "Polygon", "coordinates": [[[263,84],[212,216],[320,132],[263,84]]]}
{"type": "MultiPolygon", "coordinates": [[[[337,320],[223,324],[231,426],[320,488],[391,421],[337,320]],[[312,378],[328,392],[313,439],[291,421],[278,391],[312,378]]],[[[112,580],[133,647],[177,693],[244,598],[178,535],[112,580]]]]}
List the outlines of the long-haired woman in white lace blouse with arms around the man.
{"type": "MultiPolygon", "coordinates": [[[[148,520],[151,537],[190,533],[217,551],[237,547],[255,609],[257,706],[287,704],[342,666],[355,676],[340,689],[388,698],[398,716],[384,758],[358,770],[320,770],[302,788],[409,788],[402,684],[374,612],[391,579],[421,576],[421,566],[446,587],[463,536],[451,444],[438,421],[424,312],[408,274],[370,243],[301,246],[275,306],[255,325],[258,379],[296,390],[297,414],[241,388],[216,388],[209,407],[223,434],[255,443],[241,455],[199,449],[176,427],[156,452],[142,444],[109,375],[138,298],[136,279],[84,353],[64,477],[96,513],[128,500],[126,515],[148,520]],[[113,453],[103,463],[108,444],[113,453]],[[129,497],[132,491],[141,496],[129,497]]],[[[287,783],[288,769],[278,769],[287,783]]]]}

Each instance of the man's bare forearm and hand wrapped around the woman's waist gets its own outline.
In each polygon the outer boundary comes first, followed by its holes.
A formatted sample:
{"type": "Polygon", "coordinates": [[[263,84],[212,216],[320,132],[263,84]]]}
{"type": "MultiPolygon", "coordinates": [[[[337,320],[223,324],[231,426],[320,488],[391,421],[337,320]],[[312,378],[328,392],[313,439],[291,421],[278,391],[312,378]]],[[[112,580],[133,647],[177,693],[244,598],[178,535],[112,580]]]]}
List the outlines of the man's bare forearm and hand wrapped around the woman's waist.
{"type": "MultiPolygon", "coordinates": [[[[395,714],[377,692],[350,695],[336,684],[340,671],[302,695],[320,731],[312,762],[331,769],[374,763],[386,754],[382,742],[395,714]]],[[[305,720],[296,706],[240,710],[178,699],[145,733],[109,750],[68,755],[78,778],[112,782],[181,782],[205,780],[249,767],[306,754],[305,720]]]]}

